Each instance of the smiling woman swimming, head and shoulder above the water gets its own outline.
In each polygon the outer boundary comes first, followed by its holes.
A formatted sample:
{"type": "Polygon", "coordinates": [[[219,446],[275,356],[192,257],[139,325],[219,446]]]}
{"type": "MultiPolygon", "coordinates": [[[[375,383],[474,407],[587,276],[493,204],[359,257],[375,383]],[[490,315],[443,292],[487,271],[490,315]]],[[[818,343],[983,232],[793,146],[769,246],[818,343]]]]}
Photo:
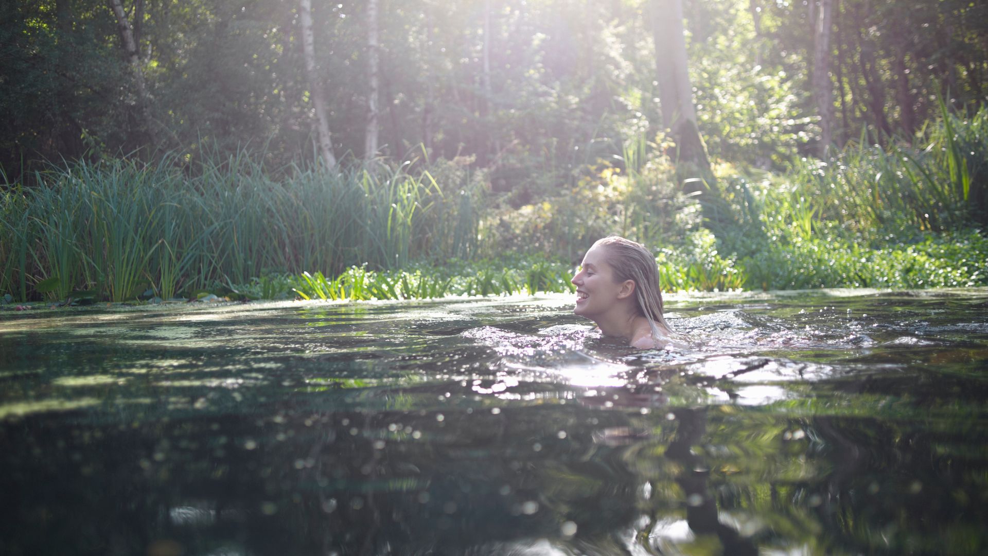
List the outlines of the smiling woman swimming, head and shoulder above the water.
{"type": "Polygon", "coordinates": [[[673,343],[662,317],[662,292],[655,257],[641,243],[617,235],[599,239],[583,257],[571,282],[576,309],[601,328],[639,349],[673,343]]]}

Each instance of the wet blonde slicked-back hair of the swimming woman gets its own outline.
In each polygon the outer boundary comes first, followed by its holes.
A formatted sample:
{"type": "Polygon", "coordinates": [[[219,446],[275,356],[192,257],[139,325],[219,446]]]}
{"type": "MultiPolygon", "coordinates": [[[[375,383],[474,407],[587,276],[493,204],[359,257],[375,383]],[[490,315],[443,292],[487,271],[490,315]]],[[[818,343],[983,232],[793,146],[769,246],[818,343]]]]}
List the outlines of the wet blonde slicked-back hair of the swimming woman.
{"type": "Polygon", "coordinates": [[[620,235],[608,235],[594,245],[606,247],[608,264],[614,269],[617,282],[634,282],[634,297],[638,312],[648,320],[653,337],[673,334],[662,316],[662,289],[659,286],[659,267],[655,256],[641,243],[620,235]]]}

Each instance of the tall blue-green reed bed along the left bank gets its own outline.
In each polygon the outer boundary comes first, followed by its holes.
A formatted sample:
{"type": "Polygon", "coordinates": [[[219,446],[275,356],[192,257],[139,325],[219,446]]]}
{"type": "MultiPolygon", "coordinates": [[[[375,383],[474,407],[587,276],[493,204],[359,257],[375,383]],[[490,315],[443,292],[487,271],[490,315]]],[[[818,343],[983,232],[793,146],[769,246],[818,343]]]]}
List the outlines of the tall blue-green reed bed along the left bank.
{"type": "Polygon", "coordinates": [[[21,300],[95,289],[119,302],[148,288],[170,299],[268,269],[471,256],[483,187],[452,162],[269,171],[246,152],[193,165],[80,161],[35,178],[0,188],[0,293],[21,300]]]}

